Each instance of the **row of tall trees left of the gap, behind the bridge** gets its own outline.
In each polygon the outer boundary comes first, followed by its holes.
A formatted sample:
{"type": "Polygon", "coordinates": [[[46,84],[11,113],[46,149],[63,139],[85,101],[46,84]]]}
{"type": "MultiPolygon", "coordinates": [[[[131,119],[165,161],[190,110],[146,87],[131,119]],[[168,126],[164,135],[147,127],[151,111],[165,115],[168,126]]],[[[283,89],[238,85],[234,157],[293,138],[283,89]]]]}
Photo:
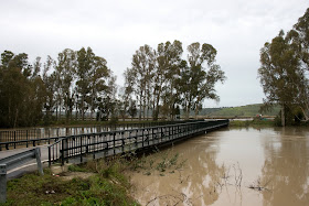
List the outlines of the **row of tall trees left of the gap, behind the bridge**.
{"type": "Polygon", "coordinates": [[[94,112],[113,96],[116,77],[105,58],[90,47],[58,53],[57,59],[47,56],[44,64],[36,57],[29,63],[25,53],[4,51],[0,64],[0,126],[35,126],[41,120],[66,120],[94,112]],[[55,115],[53,115],[55,113],[55,115]]]}

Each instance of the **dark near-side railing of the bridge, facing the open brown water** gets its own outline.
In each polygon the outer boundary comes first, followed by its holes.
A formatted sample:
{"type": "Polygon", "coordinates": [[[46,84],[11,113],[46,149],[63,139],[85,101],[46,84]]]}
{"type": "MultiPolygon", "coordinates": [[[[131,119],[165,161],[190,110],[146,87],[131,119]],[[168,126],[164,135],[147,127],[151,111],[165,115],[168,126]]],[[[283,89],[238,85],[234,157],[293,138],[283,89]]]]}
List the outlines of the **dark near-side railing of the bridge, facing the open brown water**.
{"type": "Polygon", "coordinates": [[[92,159],[96,159],[145,149],[225,126],[228,126],[228,120],[198,121],[63,137],[49,147],[49,165],[54,162],[61,162],[63,165],[70,160],[84,162],[88,154],[92,155],[92,159]]]}

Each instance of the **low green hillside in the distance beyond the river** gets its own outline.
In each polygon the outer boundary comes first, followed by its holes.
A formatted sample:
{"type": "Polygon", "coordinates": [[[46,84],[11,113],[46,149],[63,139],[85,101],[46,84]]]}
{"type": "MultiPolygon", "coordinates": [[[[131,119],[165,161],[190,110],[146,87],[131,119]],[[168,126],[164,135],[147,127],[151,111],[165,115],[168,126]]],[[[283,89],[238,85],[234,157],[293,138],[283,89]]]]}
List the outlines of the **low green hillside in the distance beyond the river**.
{"type": "MultiPolygon", "coordinates": [[[[247,105],[241,107],[223,107],[223,108],[203,108],[203,110],[199,113],[199,116],[210,116],[210,117],[254,117],[260,113],[259,108],[262,104],[256,105],[247,105]]],[[[279,113],[280,108],[275,107],[271,111],[262,112],[263,116],[277,116],[279,113]]],[[[193,113],[192,113],[193,115],[193,113]]]]}

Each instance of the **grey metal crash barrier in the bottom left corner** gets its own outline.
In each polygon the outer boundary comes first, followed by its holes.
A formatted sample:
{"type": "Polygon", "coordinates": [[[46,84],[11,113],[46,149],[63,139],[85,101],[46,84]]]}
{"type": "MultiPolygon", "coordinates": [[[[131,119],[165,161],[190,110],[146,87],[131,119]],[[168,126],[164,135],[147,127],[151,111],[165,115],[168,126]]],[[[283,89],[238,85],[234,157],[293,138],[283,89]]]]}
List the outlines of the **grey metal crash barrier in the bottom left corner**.
{"type": "Polygon", "coordinates": [[[7,200],[7,172],[33,159],[36,160],[39,173],[43,175],[40,148],[13,154],[0,160],[0,203],[6,203],[7,200]]]}

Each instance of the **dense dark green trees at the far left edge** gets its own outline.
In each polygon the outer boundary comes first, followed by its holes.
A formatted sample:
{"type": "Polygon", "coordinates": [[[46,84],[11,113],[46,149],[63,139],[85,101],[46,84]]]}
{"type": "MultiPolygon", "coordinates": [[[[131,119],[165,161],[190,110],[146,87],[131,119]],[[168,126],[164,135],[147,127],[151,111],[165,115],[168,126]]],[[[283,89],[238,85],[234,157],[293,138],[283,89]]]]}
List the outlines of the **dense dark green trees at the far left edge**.
{"type": "Polygon", "coordinates": [[[0,126],[35,126],[42,118],[45,86],[39,76],[40,58],[34,66],[28,55],[4,51],[0,63],[0,126]]]}

